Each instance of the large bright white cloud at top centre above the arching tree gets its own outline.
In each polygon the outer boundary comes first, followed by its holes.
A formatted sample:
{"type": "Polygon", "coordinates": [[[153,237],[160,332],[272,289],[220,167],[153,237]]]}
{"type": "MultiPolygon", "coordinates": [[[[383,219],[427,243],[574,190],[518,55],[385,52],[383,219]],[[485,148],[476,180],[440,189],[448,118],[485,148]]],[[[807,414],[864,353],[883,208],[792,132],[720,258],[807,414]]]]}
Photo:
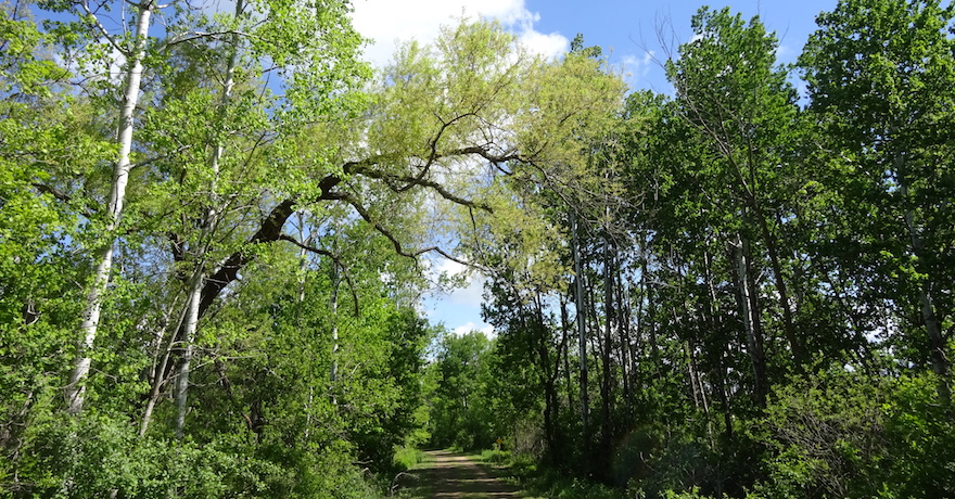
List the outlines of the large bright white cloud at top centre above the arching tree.
{"type": "Polygon", "coordinates": [[[494,18],[518,35],[529,49],[547,57],[566,51],[566,37],[534,29],[539,15],[524,7],[524,0],[355,0],[352,20],[361,35],[372,38],[366,57],[374,65],[386,64],[402,42],[434,40],[442,25],[461,16],[494,18]]]}

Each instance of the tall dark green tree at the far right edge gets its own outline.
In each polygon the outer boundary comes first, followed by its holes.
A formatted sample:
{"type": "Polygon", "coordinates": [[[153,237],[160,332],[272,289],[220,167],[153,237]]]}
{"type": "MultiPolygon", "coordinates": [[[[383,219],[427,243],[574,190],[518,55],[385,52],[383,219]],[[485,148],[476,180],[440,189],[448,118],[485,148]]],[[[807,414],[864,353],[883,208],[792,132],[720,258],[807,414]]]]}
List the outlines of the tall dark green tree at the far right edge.
{"type": "MultiPolygon", "coordinates": [[[[940,1],[845,0],[817,18],[800,64],[830,159],[829,189],[849,276],[889,297],[899,328],[921,329],[950,398],[951,129],[955,125],[953,7],[940,1]],[[888,277],[870,280],[867,273],[888,277]]],[[[864,298],[865,295],[858,295],[864,298]]],[[[875,308],[869,302],[863,305],[875,308]]]]}

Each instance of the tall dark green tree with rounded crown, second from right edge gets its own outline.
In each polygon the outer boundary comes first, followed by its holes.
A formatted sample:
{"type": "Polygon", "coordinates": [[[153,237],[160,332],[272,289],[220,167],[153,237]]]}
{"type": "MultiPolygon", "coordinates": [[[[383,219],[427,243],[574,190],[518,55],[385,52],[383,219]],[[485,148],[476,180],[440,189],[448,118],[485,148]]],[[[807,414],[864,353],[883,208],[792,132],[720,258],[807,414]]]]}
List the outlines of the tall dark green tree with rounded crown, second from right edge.
{"type": "Polygon", "coordinates": [[[805,360],[795,332],[782,240],[784,220],[792,218],[788,206],[792,194],[781,175],[792,167],[786,144],[792,140],[795,92],[786,73],[774,67],[777,41],[759,18],[747,26],[728,9],[702,9],[692,24],[696,40],[680,47],[680,57],[668,63],[667,73],[678,91],[680,113],[702,141],[700,152],[706,156],[697,159],[698,165],[706,168],[706,181],[715,182],[704,195],[720,204],[718,212],[734,217],[714,229],[734,255],[754,395],[764,401],[769,378],[762,317],[765,298],[757,282],[765,265],[763,251],[778,296],[784,337],[795,362],[805,360]]]}

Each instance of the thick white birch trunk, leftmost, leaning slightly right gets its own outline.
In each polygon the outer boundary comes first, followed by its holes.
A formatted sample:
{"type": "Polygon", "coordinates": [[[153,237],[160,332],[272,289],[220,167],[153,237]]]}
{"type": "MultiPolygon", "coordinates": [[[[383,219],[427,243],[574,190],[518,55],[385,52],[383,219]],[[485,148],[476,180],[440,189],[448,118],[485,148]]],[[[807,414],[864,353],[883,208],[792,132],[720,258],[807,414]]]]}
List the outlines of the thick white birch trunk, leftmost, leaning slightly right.
{"type": "Polygon", "coordinates": [[[127,54],[129,61],[126,69],[126,85],[123,92],[123,107],[119,111],[119,155],[113,169],[113,180],[110,188],[110,203],[106,213],[106,226],[104,228],[109,241],[103,244],[97,254],[97,269],[93,273],[93,282],[86,297],[86,306],[82,310],[82,321],[79,325],[81,341],[77,351],[76,363],[69,382],[66,385],[66,411],[76,414],[82,410],[86,386],[92,358],[90,351],[97,338],[97,329],[100,325],[100,310],[103,295],[110,284],[110,271],[113,268],[113,245],[116,236],[114,231],[119,223],[123,214],[123,203],[126,199],[126,184],[129,182],[129,153],[132,150],[132,131],[135,127],[136,105],[139,102],[139,92],[142,81],[142,60],[145,57],[145,43],[149,36],[150,17],[155,4],[153,0],[145,0],[139,4],[136,20],[136,35],[132,39],[132,50],[127,54]]]}

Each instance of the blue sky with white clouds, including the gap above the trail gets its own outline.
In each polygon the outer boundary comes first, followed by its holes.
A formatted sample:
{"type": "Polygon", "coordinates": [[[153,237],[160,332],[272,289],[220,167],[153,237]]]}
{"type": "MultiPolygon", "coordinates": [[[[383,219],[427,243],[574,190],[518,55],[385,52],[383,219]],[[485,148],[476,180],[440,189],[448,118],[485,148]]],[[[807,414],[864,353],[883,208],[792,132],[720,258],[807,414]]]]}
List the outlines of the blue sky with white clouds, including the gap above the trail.
{"type": "MultiPolygon", "coordinates": [[[[375,39],[367,56],[377,64],[387,62],[398,40],[415,38],[430,41],[442,24],[453,24],[463,14],[500,21],[533,50],[547,56],[560,56],[576,34],[587,46],[599,46],[610,63],[627,74],[632,88],[671,92],[661,63],[667,49],[692,36],[690,17],[701,5],[729,7],[747,20],[760,15],[780,39],[780,62],[793,62],[808,35],[815,29],[815,16],[835,9],[837,0],[798,2],[744,0],[737,2],[591,0],[353,0],[355,27],[375,39]],[[662,33],[660,42],[658,31],[662,33]]],[[[437,260],[434,267],[450,272],[462,270],[457,264],[437,260]]],[[[435,293],[424,302],[424,312],[432,322],[443,322],[463,334],[472,329],[489,332],[481,320],[482,281],[471,281],[467,289],[435,293]]]]}

